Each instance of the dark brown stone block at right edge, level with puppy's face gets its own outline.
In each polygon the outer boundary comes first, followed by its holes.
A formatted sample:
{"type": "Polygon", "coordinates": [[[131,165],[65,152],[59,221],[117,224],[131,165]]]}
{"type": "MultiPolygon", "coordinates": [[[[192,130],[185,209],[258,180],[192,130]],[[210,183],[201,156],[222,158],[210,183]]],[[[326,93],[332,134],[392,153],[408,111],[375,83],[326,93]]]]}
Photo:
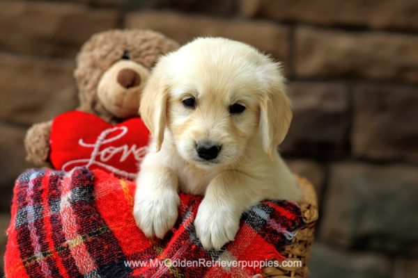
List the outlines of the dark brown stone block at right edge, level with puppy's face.
{"type": "Polygon", "coordinates": [[[354,94],[355,156],[418,162],[418,88],[359,85],[354,94]]]}

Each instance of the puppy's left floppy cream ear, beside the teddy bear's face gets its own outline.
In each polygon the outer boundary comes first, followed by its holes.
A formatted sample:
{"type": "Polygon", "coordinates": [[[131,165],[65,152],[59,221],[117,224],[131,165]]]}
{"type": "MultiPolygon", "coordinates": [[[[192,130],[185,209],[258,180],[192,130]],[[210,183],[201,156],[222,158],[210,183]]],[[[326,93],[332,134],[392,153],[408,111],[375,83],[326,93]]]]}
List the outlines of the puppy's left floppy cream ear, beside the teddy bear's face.
{"type": "Polygon", "coordinates": [[[164,81],[164,72],[161,63],[157,63],[151,72],[144,90],[141,94],[139,115],[150,130],[157,143],[156,151],[160,151],[164,140],[166,126],[168,90],[164,81]]]}

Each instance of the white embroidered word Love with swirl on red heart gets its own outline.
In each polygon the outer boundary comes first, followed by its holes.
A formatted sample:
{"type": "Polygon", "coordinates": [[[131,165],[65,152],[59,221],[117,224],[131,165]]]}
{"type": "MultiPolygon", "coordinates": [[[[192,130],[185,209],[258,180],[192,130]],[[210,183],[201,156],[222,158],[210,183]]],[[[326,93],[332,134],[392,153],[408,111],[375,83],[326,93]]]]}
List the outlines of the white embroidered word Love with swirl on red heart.
{"type": "Polygon", "coordinates": [[[126,161],[127,157],[132,155],[134,156],[135,161],[137,163],[141,162],[142,158],[144,158],[147,147],[137,147],[137,145],[122,145],[119,147],[109,146],[104,147],[101,149],[102,145],[108,144],[110,142],[114,142],[116,140],[119,140],[125,136],[128,129],[126,126],[115,126],[110,129],[106,129],[100,133],[97,140],[93,143],[84,142],[83,138],[80,138],[78,141],[79,146],[90,148],[91,149],[91,155],[90,158],[81,158],[81,159],[75,159],[72,161],[68,161],[63,165],[61,170],[68,171],[70,170],[74,165],[77,166],[86,166],[90,167],[91,165],[98,165],[100,167],[103,167],[106,170],[109,170],[111,172],[114,172],[115,174],[120,174],[122,176],[130,177],[134,179],[137,173],[130,173],[126,172],[124,170],[118,169],[112,165],[108,165],[107,161],[109,161],[111,158],[114,158],[116,154],[120,154],[119,162],[126,161]],[[107,138],[110,133],[114,133],[115,131],[120,131],[120,133],[114,135],[113,137],[107,138]],[[82,164],[86,163],[86,164],[82,164]]]}

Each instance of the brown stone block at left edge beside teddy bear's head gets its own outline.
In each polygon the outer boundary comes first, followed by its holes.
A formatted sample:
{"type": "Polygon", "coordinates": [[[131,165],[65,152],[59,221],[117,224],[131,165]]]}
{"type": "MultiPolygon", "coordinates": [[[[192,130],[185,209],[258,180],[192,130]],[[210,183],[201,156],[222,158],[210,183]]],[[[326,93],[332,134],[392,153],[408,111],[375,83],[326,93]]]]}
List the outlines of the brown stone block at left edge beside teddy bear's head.
{"type": "Polygon", "coordinates": [[[68,60],[0,54],[0,120],[32,124],[77,106],[68,60]]]}

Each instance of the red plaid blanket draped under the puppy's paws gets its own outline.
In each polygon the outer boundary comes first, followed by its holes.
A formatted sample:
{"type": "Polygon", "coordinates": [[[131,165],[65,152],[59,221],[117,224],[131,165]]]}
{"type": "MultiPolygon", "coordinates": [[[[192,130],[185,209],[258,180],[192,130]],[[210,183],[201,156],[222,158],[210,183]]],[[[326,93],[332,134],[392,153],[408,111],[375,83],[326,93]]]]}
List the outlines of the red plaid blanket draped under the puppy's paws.
{"type": "Polygon", "coordinates": [[[15,183],[6,277],[251,277],[259,267],[174,262],[280,259],[304,224],[296,204],[263,202],[242,215],[233,243],[206,251],[193,224],[202,197],[180,193],[178,222],[153,240],[134,222],[133,196],[134,183],[102,170],[24,172],[15,183]]]}

